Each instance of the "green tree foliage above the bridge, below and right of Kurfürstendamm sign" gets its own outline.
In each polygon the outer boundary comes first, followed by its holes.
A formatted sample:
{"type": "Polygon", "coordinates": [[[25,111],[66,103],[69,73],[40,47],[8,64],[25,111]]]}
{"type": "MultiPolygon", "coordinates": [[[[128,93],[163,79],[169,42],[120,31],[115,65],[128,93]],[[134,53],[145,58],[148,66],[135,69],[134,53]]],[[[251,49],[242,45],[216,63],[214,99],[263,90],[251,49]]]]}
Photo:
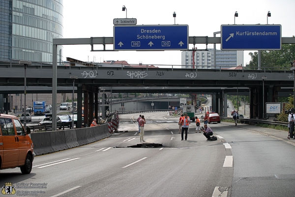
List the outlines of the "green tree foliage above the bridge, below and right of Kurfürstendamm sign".
{"type": "MultiPolygon", "coordinates": [[[[294,37],[294,36],[293,36],[294,37]]],[[[258,68],[258,52],[249,53],[251,61],[249,69],[258,68]]],[[[282,44],[277,51],[261,51],[261,69],[274,69],[273,67],[290,67],[295,60],[295,44],[282,44]]],[[[276,68],[280,69],[280,68],[276,68]]]]}

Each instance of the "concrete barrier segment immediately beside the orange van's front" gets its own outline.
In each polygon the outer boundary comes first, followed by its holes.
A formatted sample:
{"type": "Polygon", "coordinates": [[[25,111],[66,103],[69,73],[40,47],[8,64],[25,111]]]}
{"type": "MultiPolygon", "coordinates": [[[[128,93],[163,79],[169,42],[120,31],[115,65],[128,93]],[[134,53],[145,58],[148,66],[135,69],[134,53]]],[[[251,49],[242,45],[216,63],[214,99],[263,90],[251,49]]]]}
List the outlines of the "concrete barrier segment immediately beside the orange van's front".
{"type": "Polygon", "coordinates": [[[31,139],[34,144],[34,153],[36,156],[54,152],[51,147],[49,132],[32,132],[31,139]]]}

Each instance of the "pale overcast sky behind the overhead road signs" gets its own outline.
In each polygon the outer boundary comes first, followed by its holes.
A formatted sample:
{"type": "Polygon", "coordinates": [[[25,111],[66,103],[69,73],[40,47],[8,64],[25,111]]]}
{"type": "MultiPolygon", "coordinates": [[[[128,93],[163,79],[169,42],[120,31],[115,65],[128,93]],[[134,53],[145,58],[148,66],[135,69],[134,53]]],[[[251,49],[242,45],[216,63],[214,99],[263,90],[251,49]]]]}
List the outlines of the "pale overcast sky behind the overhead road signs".
{"type": "MultiPolygon", "coordinates": [[[[137,25],[188,25],[189,36],[213,37],[221,25],[232,25],[235,12],[236,24],[282,25],[282,37],[295,35],[295,0],[63,0],[63,38],[113,37],[113,19],[136,18],[137,25]],[[176,12],[176,18],[173,13],[176,12]]],[[[217,34],[216,36],[220,36],[217,34]]],[[[206,45],[196,45],[206,49],[206,45]]],[[[193,44],[189,45],[189,49],[193,44]]],[[[213,48],[213,44],[208,44],[213,48]]],[[[220,44],[216,44],[220,49],[220,44]]],[[[94,49],[103,49],[102,45],[94,49]]],[[[107,45],[106,49],[113,49],[107,45]]],[[[66,57],[80,61],[127,61],[129,64],[181,65],[181,51],[116,51],[91,52],[90,45],[64,45],[63,60],[66,57]]],[[[244,65],[251,60],[244,51],[244,65]]]]}

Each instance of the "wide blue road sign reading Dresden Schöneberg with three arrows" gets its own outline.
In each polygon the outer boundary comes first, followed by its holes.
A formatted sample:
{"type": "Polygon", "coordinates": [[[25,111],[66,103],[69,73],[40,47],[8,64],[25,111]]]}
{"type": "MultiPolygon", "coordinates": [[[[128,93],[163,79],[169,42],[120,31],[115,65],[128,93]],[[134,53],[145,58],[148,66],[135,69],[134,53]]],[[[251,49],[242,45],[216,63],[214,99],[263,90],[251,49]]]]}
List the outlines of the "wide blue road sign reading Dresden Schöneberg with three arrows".
{"type": "Polygon", "coordinates": [[[114,26],[114,50],[188,50],[188,25],[114,26]]]}

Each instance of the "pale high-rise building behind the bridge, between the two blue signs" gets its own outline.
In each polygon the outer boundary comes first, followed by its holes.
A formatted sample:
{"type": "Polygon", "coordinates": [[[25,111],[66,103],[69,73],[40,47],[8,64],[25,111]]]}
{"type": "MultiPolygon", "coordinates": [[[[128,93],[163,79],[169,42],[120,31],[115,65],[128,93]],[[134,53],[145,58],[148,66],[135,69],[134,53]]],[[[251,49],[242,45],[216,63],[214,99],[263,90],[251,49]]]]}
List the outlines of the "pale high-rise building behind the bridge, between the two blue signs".
{"type": "MultiPolygon", "coordinates": [[[[196,51],[195,52],[195,66],[197,68],[214,68],[214,50],[196,51]]],[[[243,51],[222,51],[216,50],[216,66],[222,68],[229,68],[234,66],[243,66],[244,55],[243,51]]],[[[181,53],[181,65],[187,68],[193,66],[192,51],[183,51],[181,53]]]]}

